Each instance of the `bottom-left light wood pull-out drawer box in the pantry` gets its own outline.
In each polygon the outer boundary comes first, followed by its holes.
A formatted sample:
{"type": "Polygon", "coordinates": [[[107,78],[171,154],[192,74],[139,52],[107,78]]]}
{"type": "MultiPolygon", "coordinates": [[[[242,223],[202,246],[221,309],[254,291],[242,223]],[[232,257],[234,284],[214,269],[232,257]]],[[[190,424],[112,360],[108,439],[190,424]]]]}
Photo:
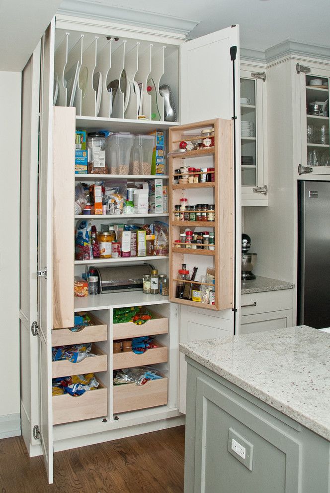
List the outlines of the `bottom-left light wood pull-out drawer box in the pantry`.
{"type": "Polygon", "coordinates": [[[108,389],[101,383],[94,390],[73,395],[53,395],[53,424],[99,418],[108,414],[108,389]]]}

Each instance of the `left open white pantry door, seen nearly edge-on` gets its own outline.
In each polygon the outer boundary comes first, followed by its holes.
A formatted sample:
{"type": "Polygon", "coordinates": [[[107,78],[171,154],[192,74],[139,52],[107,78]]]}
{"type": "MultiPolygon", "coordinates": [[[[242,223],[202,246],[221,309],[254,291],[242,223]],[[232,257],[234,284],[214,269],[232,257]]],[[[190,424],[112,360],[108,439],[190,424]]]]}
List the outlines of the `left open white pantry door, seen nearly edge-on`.
{"type": "Polygon", "coordinates": [[[52,413],[52,201],[53,201],[53,80],[55,19],[41,40],[40,137],[38,193],[38,325],[40,367],[40,440],[48,474],[53,482],[52,413]],[[42,272],[45,271],[46,272],[42,272]]]}

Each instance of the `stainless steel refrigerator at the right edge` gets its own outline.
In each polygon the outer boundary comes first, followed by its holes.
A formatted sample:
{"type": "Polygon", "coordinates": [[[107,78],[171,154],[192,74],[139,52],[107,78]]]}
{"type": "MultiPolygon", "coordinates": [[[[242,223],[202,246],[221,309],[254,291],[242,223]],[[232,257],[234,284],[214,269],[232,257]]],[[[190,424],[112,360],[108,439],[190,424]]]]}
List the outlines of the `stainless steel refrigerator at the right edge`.
{"type": "Polygon", "coordinates": [[[298,182],[297,324],[330,327],[330,182],[298,182]]]}

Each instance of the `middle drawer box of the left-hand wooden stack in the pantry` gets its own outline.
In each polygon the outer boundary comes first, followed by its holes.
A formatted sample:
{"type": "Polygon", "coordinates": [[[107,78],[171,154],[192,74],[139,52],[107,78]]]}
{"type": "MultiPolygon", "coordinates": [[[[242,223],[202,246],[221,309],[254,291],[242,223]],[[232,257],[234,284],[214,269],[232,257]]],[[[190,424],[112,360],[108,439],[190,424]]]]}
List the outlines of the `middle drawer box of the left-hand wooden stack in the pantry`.
{"type": "Polygon", "coordinates": [[[94,345],[91,347],[91,353],[97,356],[87,357],[80,363],[72,363],[68,360],[52,361],[52,378],[106,371],[108,369],[107,355],[94,345]]]}

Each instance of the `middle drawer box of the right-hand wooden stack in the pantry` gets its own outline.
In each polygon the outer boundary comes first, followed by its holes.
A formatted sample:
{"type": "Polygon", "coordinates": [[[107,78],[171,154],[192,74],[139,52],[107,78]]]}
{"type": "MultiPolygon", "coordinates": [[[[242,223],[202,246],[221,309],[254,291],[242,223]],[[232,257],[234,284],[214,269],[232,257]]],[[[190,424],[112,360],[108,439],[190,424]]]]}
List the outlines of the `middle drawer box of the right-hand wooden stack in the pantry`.
{"type": "Polygon", "coordinates": [[[159,345],[159,348],[148,349],[141,355],[130,351],[129,353],[114,353],[112,356],[113,370],[155,365],[156,363],[165,363],[167,361],[167,347],[159,345]]]}

